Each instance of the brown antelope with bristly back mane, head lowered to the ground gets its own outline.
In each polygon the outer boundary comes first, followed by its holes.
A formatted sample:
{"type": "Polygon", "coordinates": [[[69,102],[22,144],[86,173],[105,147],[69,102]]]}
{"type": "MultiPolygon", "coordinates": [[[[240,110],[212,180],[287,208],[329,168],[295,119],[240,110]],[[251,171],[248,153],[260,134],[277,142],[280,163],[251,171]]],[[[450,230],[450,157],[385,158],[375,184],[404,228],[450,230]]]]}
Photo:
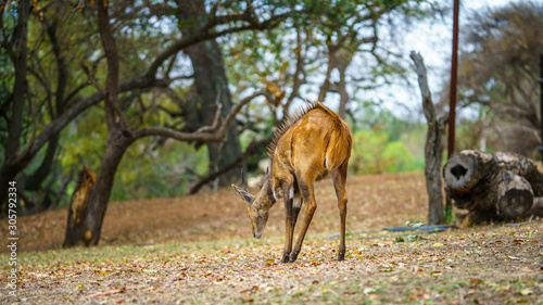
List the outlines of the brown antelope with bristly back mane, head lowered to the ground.
{"type": "MultiPolygon", "coordinates": [[[[346,169],[353,139],[351,128],[337,113],[315,102],[293,119],[282,124],[275,132],[268,154],[272,173],[266,173],[256,196],[247,185],[232,188],[248,203],[253,236],[262,237],[268,211],[279,198],[285,202],[285,252],[282,263],[294,262],[302,247],[313,214],[317,208],[314,183],[331,174],[341,220],[341,240],[338,259],[345,257],[346,169]],[[298,214],[305,203],[305,215],[296,244],[292,250],[292,236],[298,214]]],[[[241,174],[244,180],[243,173],[241,174]]]]}

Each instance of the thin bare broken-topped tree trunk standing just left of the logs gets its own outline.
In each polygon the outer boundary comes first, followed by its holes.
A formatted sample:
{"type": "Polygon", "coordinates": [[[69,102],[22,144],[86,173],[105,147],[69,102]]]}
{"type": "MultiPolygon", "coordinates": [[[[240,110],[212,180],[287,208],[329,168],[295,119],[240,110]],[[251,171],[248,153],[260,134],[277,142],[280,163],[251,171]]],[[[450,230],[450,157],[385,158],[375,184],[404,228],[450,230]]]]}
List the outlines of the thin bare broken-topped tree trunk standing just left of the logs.
{"type": "Polygon", "coordinates": [[[426,189],[428,192],[428,223],[430,225],[441,225],[445,223],[443,209],[443,189],[441,185],[441,139],[444,129],[444,119],[438,119],[433,102],[431,100],[430,89],[425,63],[420,54],[411,52],[411,58],[415,63],[418,84],[422,96],[422,109],[428,122],[428,132],[425,144],[425,177],[426,189]]]}

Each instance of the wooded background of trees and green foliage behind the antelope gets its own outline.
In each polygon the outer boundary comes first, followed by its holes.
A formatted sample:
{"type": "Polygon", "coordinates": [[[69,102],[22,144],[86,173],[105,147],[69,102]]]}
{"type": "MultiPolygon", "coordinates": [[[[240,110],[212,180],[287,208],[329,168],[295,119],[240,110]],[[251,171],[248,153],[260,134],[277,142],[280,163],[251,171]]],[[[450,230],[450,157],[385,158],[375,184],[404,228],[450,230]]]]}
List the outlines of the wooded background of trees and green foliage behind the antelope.
{"type": "MultiPolygon", "coordinates": [[[[352,175],[422,169],[403,37],[441,35],[450,2],[0,1],[0,181],[24,214],[67,205],[84,165],[102,205],[216,189],[261,175],[274,126],[314,99],[352,126],[352,175]],[[412,103],[376,93],[399,85],[412,103]]],[[[542,2],[463,13],[457,150],[540,160],[542,2]]]]}

